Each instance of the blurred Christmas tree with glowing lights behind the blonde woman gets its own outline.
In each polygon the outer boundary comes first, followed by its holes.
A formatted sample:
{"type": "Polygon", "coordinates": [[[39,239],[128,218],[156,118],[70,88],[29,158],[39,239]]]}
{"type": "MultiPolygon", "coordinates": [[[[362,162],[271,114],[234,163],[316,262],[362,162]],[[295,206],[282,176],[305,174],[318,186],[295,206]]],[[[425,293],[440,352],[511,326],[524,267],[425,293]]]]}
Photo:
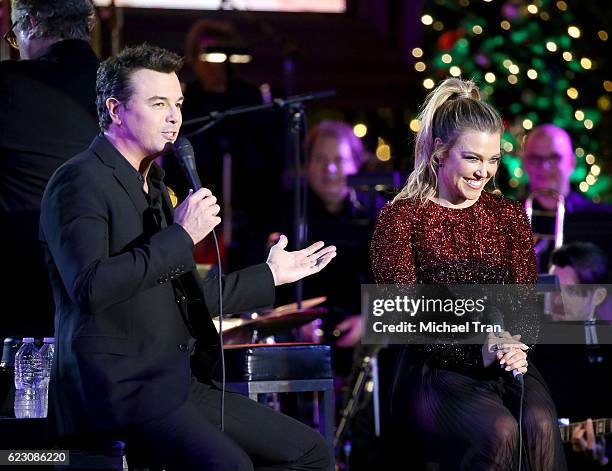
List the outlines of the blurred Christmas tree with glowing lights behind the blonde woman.
{"type": "MultiPolygon", "coordinates": [[[[510,191],[526,183],[518,153],[526,132],[553,123],[572,136],[572,182],[595,201],[610,196],[612,76],[608,2],[432,0],[423,46],[412,50],[423,93],[448,76],[475,80],[501,111],[510,191]],[[437,27],[434,27],[436,26],[437,27]]],[[[411,129],[418,123],[410,124],[411,129]]]]}

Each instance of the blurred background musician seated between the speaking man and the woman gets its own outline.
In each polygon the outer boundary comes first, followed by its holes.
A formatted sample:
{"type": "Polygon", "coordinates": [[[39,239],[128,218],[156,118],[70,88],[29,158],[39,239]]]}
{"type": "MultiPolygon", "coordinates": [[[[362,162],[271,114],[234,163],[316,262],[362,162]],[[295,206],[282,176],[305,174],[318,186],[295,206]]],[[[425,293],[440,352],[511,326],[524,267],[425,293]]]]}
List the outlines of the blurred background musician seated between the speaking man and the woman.
{"type": "Polygon", "coordinates": [[[372,221],[347,179],[359,171],[366,155],[353,129],[341,121],[322,121],[312,128],[306,138],[306,155],[309,236],[314,240],[325,236],[345,250],[334,270],[308,280],[305,290],[327,296],[330,317],[337,323],[325,329],[328,338],[337,337],[340,347],[352,347],[361,341],[359,289],[371,282],[367,257],[372,221]],[[334,282],[339,279],[343,282],[334,282]]]}

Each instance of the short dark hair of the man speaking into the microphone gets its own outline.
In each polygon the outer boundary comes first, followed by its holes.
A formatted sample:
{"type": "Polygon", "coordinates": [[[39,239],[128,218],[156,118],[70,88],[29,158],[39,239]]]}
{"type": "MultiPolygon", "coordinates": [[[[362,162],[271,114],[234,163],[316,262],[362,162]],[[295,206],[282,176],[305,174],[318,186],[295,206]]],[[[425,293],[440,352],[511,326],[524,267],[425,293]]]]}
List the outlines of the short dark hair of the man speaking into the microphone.
{"type": "Polygon", "coordinates": [[[106,108],[108,98],[116,98],[127,103],[132,96],[131,77],[142,69],[170,74],[178,72],[183,59],[177,54],[161,47],[141,44],[124,49],[114,57],[106,59],[98,68],[96,79],[96,105],[100,129],[106,131],[112,120],[106,108]]]}

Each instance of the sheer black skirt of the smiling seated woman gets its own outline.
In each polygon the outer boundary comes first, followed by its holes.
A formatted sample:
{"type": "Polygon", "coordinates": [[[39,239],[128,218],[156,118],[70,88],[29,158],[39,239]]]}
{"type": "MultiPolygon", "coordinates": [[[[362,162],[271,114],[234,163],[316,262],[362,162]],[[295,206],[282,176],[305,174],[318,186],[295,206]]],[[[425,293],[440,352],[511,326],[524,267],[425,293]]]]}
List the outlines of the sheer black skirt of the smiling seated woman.
{"type": "MultiPolygon", "coordinates": [[[[510,373],[471,375],[402,356],[391,416],[394,448],[410,450],[406,469],[421,460],[442,470],[518,470],[521,386],[510,373]]],[[[533,365],[524,383],[521,471],[565,471],[555,406],[533,365]]]]}

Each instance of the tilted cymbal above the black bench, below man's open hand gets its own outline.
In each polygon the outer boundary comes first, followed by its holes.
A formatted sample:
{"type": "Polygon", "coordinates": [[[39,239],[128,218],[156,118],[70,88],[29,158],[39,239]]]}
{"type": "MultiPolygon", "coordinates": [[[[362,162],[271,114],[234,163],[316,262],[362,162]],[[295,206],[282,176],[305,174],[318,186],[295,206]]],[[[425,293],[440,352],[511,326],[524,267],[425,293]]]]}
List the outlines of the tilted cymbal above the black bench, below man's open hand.
{"type": "Polygon", "coordinates": [[[227,344],[250,342],[255,330],[259,338],[269,337],[308,324],[325,314],[325,308],[311,308],[260,316],[227,330],[223,329],[223,337],[227,344]]]}

